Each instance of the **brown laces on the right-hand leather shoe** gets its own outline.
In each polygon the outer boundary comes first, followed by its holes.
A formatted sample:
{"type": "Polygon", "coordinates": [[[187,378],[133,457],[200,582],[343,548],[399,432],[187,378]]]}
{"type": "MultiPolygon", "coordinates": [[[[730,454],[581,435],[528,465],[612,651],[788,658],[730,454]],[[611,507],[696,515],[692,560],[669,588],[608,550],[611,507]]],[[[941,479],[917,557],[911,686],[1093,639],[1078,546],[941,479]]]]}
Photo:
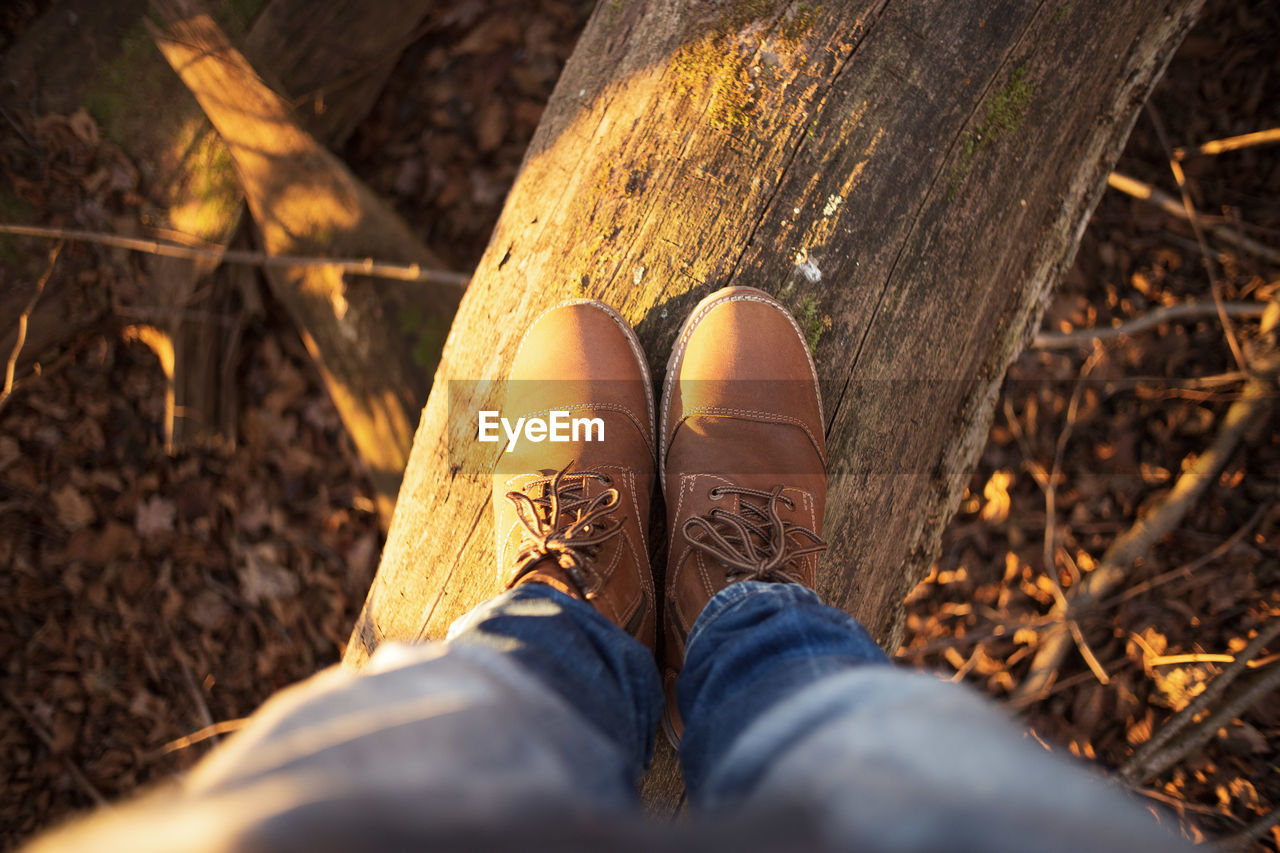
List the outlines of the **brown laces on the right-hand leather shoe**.
{"type": "Polygon", "coordinates": [[[737,512],[716,507],[707,515],[689,519],[681,528],[685,542],[723,564],[730,583],[799,583],[800,578],[788,567],[800,557],[823,551],[827,543],[809,528],[778,515],[778,505],[794,510],[795,502],[782,494],[781,485],[768,492],[735,485],[717,485],[710,491],[713,501],[726,494],[751,501],[740,500],[737,512]],[[695,535],[699,530],[701,535],[695,535]]]}

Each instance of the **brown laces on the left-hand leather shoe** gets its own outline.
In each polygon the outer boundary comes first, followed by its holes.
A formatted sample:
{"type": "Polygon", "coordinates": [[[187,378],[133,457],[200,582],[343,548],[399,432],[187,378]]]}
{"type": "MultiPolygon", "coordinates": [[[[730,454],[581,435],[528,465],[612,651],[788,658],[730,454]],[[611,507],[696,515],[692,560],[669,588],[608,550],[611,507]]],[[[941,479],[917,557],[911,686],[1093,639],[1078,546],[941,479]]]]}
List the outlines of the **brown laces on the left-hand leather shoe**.
{"type": "Polygon", "coordinates": [[[544,557],[550,557],[564,570],[584,598],[599,583],[591,569],[594,557],[603,543],[622,532],[622,519],[613,521],[611,516],[618,505],[618,491],[605,488],[595,497],[586,497],[588,479],[605,487],[613,480],[598,471],[570,473],[572,466],[573,462],[570,462],[554,476],[525,487],[540,488],[538,497],[507,492],[507,500],[516,506],[516,515],[525,525],[525,539],[520,543],[516,570],[508,587],[532,571],[544,557]]]}

